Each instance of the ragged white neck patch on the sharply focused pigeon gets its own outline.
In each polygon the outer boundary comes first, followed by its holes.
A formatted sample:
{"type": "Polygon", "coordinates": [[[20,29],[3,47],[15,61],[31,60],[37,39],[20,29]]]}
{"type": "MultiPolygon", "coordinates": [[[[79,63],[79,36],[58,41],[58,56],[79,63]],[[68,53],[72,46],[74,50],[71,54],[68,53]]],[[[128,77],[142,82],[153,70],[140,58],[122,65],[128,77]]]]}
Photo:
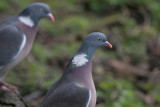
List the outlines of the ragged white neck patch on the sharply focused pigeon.
{"type": "Polygon", "coordinates": [[[86,56],[87,55],[84,53],[76,55],[72,60],[72,64],[76,65],[76,67],[85,65],[88,62],[88,59],[86,58],[86,56]]]}

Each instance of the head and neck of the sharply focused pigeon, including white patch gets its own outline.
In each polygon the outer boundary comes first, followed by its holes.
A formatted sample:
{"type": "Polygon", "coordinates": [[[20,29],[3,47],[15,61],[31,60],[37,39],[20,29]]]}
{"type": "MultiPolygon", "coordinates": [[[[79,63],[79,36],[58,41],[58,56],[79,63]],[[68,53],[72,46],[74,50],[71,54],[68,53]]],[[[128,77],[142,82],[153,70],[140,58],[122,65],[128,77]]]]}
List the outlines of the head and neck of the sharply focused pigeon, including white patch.
{"type": "Polygon", "coordinates": [[[71,59],[67,68],[81,67],[86,65],[92,59],[92,56],[98,47],[105,46],[112,48],[112,45],[107,41],[106,36],[100,32],[89,34],[76,55],[71,59]]]}

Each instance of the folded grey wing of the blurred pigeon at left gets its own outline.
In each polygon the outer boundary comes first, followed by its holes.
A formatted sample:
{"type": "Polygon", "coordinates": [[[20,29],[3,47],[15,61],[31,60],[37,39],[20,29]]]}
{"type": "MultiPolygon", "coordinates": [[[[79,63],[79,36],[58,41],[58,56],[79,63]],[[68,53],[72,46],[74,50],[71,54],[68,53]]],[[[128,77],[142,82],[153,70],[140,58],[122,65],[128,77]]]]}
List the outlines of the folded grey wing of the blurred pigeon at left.
{"type": "Polygon", "coordinates": [[[23,33],[13,25],[0,28],[0,67],[11,62],[24,42],[23,33]]]}

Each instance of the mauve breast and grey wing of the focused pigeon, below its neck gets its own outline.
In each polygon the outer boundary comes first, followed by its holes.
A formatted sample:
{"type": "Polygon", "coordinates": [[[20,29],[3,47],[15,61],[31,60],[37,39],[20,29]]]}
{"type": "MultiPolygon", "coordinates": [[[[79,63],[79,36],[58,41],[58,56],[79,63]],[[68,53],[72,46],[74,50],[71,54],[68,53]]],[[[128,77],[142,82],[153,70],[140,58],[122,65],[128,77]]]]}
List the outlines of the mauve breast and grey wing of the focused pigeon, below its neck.
{"type": "Polygon", "coordinates": [[[96,90],[92,79],[92,61],[78,70],[67,69],[64,73],[47,93],[42,107],[95,107],[96,90]],[[90,72],[85,72],[86,70],[90,72]]]}

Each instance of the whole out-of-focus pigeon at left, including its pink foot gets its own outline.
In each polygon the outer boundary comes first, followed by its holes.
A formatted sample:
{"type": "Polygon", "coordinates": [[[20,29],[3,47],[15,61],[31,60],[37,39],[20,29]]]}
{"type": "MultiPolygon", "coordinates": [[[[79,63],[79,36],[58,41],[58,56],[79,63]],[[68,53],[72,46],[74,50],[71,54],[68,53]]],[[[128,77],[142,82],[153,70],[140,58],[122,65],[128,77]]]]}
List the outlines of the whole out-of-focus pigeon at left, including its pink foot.
{"type": "Polygon", "coordinates": [[[20,14],[0,22],[0,89],[14,90],[3,78],[30,52],[41,18],[54,21],[46,4],[33,3],[20,14]]]}

